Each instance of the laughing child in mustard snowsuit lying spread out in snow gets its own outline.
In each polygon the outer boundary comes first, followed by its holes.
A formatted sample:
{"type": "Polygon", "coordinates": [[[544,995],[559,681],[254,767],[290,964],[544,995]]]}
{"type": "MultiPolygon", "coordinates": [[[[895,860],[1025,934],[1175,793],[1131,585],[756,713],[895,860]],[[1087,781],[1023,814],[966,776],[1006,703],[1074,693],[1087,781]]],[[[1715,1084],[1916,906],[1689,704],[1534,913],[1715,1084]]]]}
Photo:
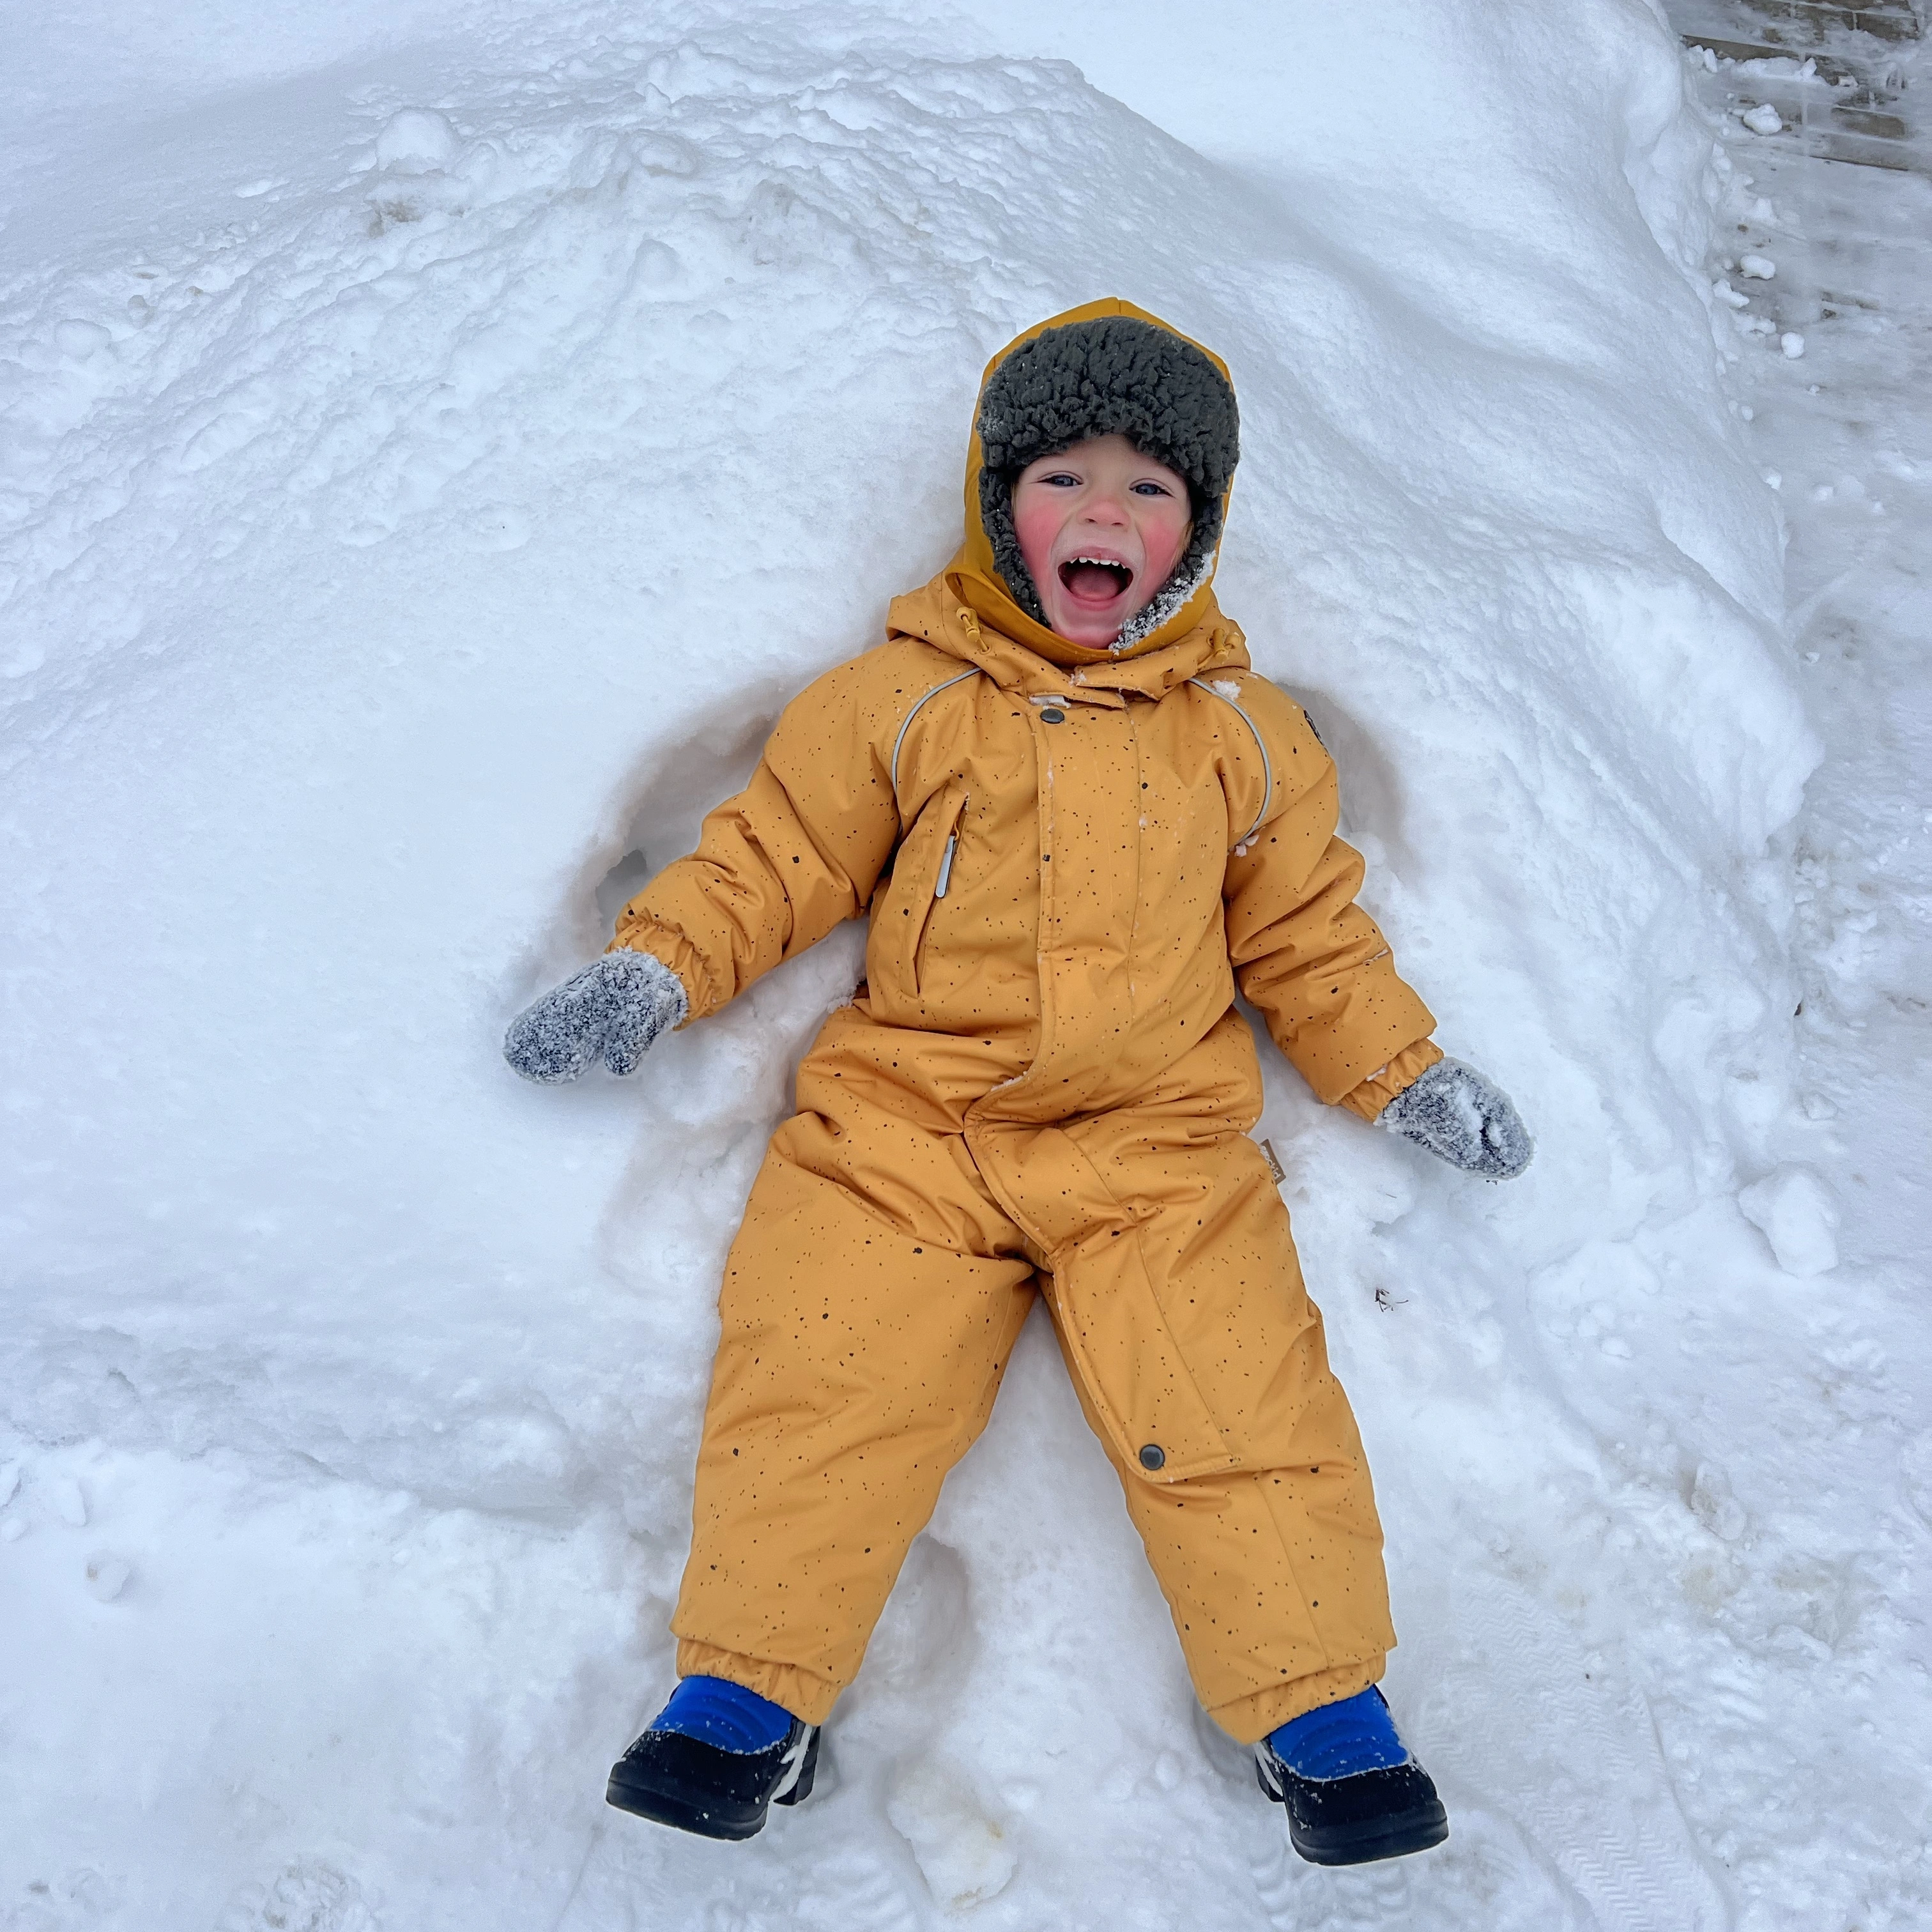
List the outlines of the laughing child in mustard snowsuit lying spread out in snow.
{"type": "Polygon", "coordinates": [[[869,908],[866,983],[798,1070],[719,1298],[672,1631],[612,1804],[750,1837],[1045,1294],[1213,1718],[1302,1857],[1439,1843],[1374,1689],[1381,1524],[1329,1374],[1235,989],[1325,1101],[1488,1179],[1515,1109],[1443,1059],[1354,904],[1335,767],[1209,582],[1225,365],[1101,301],[980,392],[966,545],[779,719],[612,949],[510,1028],[529,1080],[632,1072],[869,908]]]}

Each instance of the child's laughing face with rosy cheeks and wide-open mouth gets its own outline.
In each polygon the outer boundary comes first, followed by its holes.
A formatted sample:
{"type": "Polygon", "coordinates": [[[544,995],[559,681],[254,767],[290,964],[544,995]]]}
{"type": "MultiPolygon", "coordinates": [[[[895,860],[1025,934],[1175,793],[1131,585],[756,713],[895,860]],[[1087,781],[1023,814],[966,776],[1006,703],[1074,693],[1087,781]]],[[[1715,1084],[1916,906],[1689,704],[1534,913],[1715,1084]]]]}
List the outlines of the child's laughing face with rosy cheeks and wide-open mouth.
{"type": "Polygon", "coordinates": [[[1012,526],[1047,624],[1094,649],[1173,576],[1192,522],[1186,477],[1126,437],[1041,456],[1012,485],[1012,526]]]}

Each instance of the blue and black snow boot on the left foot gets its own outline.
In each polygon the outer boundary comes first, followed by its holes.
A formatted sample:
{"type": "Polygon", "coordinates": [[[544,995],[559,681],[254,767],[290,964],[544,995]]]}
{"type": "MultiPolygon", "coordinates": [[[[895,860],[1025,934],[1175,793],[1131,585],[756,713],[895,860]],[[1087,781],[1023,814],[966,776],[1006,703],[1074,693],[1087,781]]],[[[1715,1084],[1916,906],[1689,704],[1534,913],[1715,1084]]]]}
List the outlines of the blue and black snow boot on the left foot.
{"type": "Polygon", "coordinates": [[[611,1766],[618,1810],[699,1837],[752,1837],[773,1803],[811,1797],[819,1727],[723,1677],[686,1677],[611,1766]]]}

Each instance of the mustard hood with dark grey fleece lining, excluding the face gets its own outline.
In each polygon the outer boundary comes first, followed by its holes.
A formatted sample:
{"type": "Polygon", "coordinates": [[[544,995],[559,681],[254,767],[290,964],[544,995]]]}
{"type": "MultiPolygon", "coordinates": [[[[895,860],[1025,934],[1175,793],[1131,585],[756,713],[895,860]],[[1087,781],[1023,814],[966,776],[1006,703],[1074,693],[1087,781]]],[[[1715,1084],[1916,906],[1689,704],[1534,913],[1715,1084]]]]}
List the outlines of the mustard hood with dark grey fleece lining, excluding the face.
{"type": "Polygon", "coordinates": [[[1211,628],[1219,618],[1213,570],[1238,456],[1235,381],[1213,350],[1117,296],[1049,315],[1014,336],[980,377],[966,452],[966,541],[945,572],[951,597],[1063,667],[1142,657],[1211,628]],[[1101,435],[1126,435],[1184,475],[1194,527],[1167,583],[1111,649],[1095,651],[1043,622],[1012,529],[1010,485],[1034,458],[1101,435]]]}

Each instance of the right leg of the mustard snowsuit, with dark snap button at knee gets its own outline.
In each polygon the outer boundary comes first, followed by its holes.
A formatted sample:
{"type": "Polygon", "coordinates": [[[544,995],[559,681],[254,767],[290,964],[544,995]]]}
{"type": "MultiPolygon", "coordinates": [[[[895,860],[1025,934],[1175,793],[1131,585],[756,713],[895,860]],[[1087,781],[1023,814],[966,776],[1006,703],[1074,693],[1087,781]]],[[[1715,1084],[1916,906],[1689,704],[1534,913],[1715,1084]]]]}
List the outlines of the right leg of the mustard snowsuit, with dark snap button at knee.
{"type": "Polygon", "coordinates": [[[1242,1743],[1376,1683],[1395,1648],[1362,1439],[1246,1132],[1258,1084],[1233,1020],[1124,1107],[974,1136],[1022,1190],[1082,1408],[1194,1689],[1242,1743]]]}

